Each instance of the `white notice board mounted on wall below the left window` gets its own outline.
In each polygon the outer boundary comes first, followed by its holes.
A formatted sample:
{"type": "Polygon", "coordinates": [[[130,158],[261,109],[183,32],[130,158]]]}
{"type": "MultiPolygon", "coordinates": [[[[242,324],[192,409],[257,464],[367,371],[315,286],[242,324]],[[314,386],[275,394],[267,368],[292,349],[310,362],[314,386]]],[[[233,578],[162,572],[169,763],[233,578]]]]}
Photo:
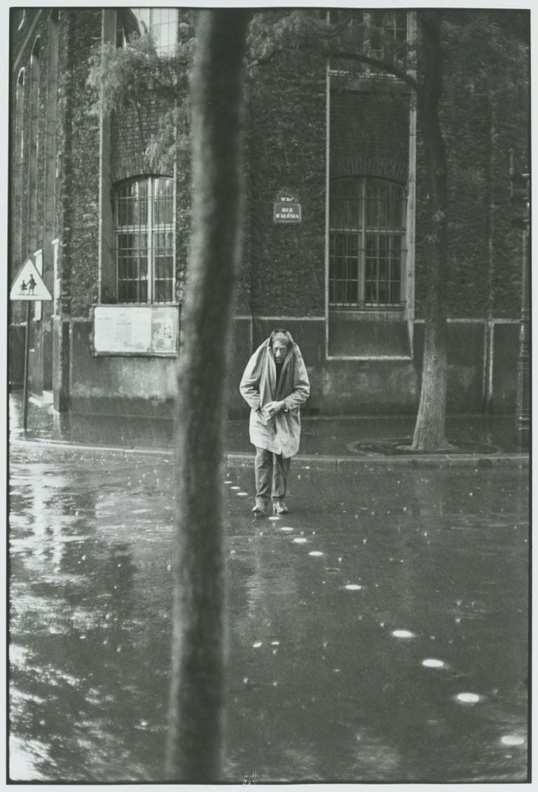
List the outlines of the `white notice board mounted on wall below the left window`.
{"type": "Polygon", "coordinates": [[[96,305],[94,355],[177,355],[177,305],[96,305]]]}

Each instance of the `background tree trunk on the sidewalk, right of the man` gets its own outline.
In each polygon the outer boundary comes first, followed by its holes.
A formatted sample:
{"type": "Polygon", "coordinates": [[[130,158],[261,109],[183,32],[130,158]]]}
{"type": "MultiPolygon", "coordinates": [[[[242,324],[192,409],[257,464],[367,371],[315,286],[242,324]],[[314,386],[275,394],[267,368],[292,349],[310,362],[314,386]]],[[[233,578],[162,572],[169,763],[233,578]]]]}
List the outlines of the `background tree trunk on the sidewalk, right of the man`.
{"type": "Polygon", "coordinates": [[[422,387],[411,447],[414,451],[435,451],[448,447],[445,428],[448,375],[447,158],[439,121],[439,100],[443,89],[440,17],[435,10],[424,10],[418,11],[418,19],[422,28],[422,84],[417,101],[425,147],[432,227],[426,270],[422,387]]]}

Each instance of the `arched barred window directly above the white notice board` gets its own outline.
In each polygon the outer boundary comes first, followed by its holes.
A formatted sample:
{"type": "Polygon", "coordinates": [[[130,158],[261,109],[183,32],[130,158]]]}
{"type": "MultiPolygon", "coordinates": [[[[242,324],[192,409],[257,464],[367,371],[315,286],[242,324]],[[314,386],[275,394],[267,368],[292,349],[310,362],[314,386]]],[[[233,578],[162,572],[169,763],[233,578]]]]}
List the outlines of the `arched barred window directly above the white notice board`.
{"type": "Polygon", "coordinates": [[[144,177],[114,191],[118,303],[174,301],[174,181],[144,177]]]}

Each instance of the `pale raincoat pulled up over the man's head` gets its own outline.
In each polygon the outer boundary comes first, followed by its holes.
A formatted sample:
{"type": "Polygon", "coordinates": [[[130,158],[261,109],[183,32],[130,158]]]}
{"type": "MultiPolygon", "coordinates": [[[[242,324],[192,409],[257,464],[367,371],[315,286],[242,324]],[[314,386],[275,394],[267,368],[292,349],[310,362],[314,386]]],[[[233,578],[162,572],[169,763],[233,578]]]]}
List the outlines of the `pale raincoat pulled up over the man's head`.
{"type": "Polygon", "coordinates": [[[250,406],[250,442],[283,457],[299,451],[300,405],[310,394],[307,367],[300,348],[292,340],[284,358],[277,386],[277,367],[270,338],[250,358],[242,375],[239,392],[250,406]],[[285,408],[270,417],[264,412],[269,402],[285,402],[285,408]]]}

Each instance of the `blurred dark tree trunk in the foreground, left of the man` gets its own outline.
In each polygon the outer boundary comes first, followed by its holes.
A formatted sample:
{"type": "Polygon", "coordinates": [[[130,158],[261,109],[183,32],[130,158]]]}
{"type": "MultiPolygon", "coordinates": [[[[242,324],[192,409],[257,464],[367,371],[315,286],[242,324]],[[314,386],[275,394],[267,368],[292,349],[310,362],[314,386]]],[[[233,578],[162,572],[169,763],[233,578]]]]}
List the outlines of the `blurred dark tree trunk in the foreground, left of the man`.
{"type": "Polygon", "coordinates": [[[224,386],[238,270],[246,10],[201,11],[192,82],[193,230],[177,368],[177,520],[167,779],[222,778],[224,386]]]}

